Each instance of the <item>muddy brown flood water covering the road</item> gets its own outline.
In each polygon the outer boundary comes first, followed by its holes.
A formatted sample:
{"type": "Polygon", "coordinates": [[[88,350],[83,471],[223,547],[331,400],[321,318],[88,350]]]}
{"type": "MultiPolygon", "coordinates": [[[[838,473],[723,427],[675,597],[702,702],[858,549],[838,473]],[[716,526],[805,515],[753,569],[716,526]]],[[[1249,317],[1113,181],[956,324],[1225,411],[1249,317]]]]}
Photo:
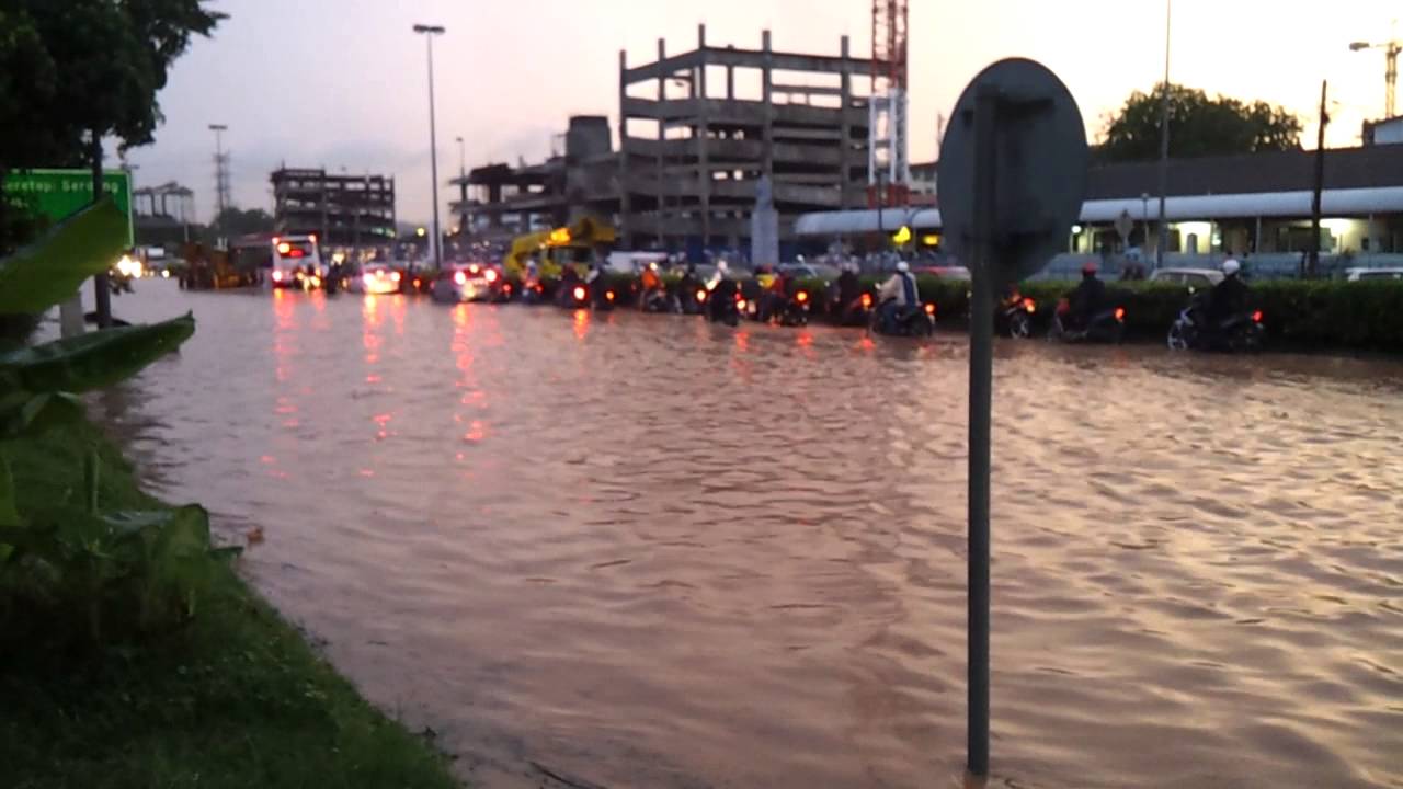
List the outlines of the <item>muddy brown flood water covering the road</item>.
{"type": "MultiPolygon", "coordinates": [[[[478,786],[964,764],[967,344],[143,282],[98,396],[478,786]]],[[[1403,364],[996,347],[992,783],[1403,786],[1403,364]]]]}

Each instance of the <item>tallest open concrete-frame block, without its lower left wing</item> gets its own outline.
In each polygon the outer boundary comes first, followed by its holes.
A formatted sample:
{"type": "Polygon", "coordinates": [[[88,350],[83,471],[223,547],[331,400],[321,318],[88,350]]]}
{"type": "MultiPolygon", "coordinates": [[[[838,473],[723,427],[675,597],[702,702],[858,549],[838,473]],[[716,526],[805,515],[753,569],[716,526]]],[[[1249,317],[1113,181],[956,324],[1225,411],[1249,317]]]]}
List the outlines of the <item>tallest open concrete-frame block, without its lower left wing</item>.
{"type": "Polygon", "coordinates": [[[741,247],[767,175],[780,237],[811,211],[866,205],[871,62],[697,48],[630,66],[619,53],[619,230],[626,247],[741,247]]]}

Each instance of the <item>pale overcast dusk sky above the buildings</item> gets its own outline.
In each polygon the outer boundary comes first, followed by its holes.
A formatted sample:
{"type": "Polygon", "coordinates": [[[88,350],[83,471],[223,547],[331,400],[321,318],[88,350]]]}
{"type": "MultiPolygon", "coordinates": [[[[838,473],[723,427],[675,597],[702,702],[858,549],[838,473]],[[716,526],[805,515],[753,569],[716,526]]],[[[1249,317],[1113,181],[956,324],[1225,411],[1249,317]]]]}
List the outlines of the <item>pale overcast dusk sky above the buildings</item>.
{"type": "MultiPolygon", "coordinates": [[[[180,181],[196,211],[213,205],[213,133],[229,125],[234,202],[272,208],[281,163],[393,174],[401,220],[429,215],[424,38],[435,41],[439,174],[539,159],[571,114],[617,118],[619,51],[631,63],[696,44],[854,56],[871,51],[871,0],[217,0],[229,14],[175,62],[160,94],[166,124],[136,149],[136,181],[180,181]]],[[[1348,44],[1390,35],[1399,0],[1174,0],[1172,79],[1209,93],[1263,98],[1306,119],[1313,146],[1320,80],[1338,100],[1331,146],[1358,145],[1383,111],[1383,53],[1348,44]]],[[[1397,28],[1395,28],[1397,29],[1397,28]]],[[[1403,32],[1403,31],[1400,31],[1403,32]]],[[[1160,0],[911,0],[911,154],[934,159],[936,118],[968,80],[1012,55],[1041,60],[1072,88],[1099,132],[1132,90],[1164,67],[1160,0]]],[[[448,190],[441,190],[446,206],[448,190]]]]}

